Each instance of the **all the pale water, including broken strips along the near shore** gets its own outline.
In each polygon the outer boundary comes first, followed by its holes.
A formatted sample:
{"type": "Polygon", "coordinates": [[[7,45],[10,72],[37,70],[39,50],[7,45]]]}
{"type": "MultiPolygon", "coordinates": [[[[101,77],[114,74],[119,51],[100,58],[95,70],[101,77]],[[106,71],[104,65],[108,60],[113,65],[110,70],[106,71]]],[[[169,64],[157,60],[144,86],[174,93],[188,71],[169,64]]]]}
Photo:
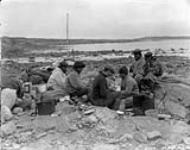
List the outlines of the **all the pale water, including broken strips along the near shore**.
{"type": "MultiPolygon", "coordinates": [[[[69,45],[68,49],[75,51],[106,51],[106,50],[122,50],[132,51],[134,49],[149,49],[158,56],[182,56],[190,58],[190,40],[161,40],[161,41],[144,41],[144,42],[131,42],[131,43],[104,43],[104,44],[79,44],[69,45]]],[[[66,50],[34,50],[31,53],[49,53],[49,52],[66,52],[66,50]]],[[[103,60],[110,58],[123,58],[131,54],[123,54],[116,56],[114,54],[99,55],[99,56],[78,56],[80,60],[103,60]]],[[[60,59],[62,56],[60,56],[60,59]]],[[[54,62],[59,58],[55,57],[36,57],[36,62],[54,62]]],[[[4,59],[6,61],[7,59],[4,59]]],[[[17,62],[28,62],[28,58],[12,59],[17,62]]]]}

